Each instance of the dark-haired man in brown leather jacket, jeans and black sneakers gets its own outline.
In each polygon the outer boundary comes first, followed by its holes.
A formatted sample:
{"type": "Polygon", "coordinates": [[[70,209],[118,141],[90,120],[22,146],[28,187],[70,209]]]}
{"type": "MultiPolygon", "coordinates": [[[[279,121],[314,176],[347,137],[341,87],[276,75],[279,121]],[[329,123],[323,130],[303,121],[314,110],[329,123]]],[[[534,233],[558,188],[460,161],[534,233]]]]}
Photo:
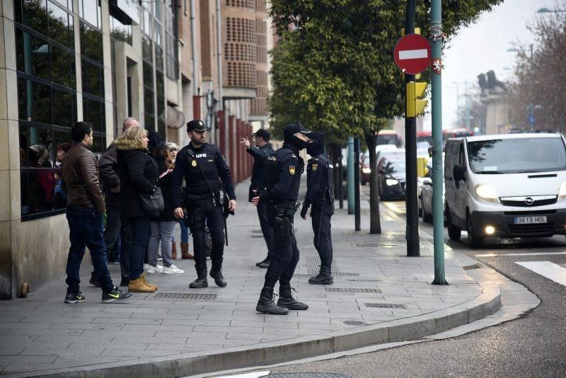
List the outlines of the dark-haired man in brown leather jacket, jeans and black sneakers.
{"type": "Polygon", "coordinates": [[[71,128],[74,144],[65,155],[62,178],[67,185],[67,221],[71,248],[67,257],[67,295],[65,303],[83,302],[79,270],[85,246],[91,252],[94,272],[102,287],[102,301],[129,299],[132,294],[122,292],[112,283],[106,266],[106,246],[103,238],[104,197],[98,180],[98,163],[91,151],[93,130],[89,122],[76,122],[71,128]]]}

